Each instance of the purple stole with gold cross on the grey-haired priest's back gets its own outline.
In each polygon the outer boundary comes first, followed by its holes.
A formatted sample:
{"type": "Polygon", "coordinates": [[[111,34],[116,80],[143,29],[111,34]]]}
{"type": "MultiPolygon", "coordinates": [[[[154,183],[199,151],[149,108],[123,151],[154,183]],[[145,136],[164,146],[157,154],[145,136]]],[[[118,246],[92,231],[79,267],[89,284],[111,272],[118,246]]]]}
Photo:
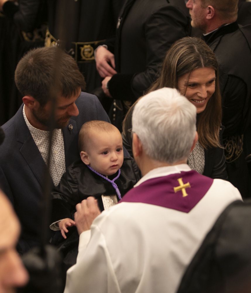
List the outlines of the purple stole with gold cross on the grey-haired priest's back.
{"type": "Polygon", "coordinates": [[[142,202],[188,213],[207,193],[213,179],[196,171],[151,178],[126,193],[120,202],[142,202]]]}

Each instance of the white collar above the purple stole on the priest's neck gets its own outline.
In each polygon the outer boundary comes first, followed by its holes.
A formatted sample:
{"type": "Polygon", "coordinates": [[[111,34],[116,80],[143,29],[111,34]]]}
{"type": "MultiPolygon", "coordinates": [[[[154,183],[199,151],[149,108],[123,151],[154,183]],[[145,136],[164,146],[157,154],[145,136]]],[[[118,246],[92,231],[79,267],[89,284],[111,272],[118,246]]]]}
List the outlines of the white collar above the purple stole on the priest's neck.
{"type": "Polygon", "coordinates": [[[191,171],[190,167],[187,164],[180,164],[175,166],[164,166],[152,169],[149,171],[145,176],[143,176],[135,185],[137,187],[141,183],[145,182],[146,180],[156,178],[156,177],[163,177],[170,174],[181,173],[182,171],[191,171]]]}

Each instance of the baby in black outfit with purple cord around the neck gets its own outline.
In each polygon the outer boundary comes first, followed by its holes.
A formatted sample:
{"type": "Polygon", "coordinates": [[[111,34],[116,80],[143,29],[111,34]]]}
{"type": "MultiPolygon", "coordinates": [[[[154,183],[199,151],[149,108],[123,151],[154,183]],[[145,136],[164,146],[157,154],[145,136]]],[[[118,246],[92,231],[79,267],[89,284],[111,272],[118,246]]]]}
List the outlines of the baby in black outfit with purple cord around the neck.
{"type": "Polygon", "coordinates": [[[80,159],[72,163],[52,192],[52,224],[66,239],[68,227],[75,226],[75,206],[88,196],[98,200],[100,210],[114,205],[139,180],[132,158],[124,158],[122,137],[112,124],[86,122],[78,136],[80,159]]]}

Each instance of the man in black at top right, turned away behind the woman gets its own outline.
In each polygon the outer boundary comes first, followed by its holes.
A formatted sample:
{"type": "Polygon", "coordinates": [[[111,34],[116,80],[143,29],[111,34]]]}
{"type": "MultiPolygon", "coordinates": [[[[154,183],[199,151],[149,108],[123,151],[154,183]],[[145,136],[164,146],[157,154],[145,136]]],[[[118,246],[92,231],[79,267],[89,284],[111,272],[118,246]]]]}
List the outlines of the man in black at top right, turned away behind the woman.
{"type": "Polygon", "coordinates": [[[186,6],[191,25],[202,30],[219,62],[228,179],[250,197],[251,25],[237,24],[238,0],[189,0],[186,6]]]}

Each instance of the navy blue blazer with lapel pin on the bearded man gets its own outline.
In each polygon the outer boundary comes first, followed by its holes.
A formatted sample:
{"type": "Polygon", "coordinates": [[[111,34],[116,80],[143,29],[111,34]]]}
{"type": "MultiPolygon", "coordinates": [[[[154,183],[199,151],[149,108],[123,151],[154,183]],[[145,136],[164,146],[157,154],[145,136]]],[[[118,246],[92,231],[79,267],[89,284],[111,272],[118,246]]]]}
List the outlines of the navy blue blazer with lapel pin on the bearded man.
{"type": "MultiPolygon", "coordinates": [[[[82,92],[76,105],[79,115],[69,121],[69,125],[73,125],[72,131],[68,126],[63,128],[66,168],[79,158],[80,127],[90,120],[110,122],[96,96],[82,92]]],[[[24,253],[40,240],[47,167],[23,118],[23,105],[2,128],[5,140],[0,146],[0,187],[11,200],[21,222],[18,251],[24,253]]],[[[49,181],[53,188],[52,179],[49,181]]]]}

